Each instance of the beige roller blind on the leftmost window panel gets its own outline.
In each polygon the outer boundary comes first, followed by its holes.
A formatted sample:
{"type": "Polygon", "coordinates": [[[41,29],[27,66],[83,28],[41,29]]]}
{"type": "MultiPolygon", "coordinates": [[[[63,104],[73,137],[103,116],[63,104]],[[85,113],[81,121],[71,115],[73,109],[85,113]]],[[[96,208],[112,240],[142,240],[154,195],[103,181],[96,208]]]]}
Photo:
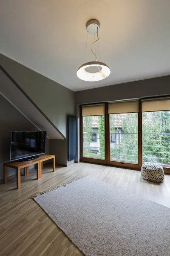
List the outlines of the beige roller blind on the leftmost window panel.
{"type": "Polygon", "coordinates": [[[82,116],[101,116],[105,115],[105,105],[82,106],[82,116]]]}

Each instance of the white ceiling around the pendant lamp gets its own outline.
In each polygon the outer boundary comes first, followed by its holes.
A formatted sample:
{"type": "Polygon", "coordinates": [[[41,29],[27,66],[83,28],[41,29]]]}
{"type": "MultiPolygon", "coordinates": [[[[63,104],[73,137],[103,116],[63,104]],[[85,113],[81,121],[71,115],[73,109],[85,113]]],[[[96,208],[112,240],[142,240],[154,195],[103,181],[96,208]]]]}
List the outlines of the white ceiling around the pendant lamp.
{"type": "MultiPolygon", "coordinates": [[[[93,61],[88,35],[85,62],[93,61]]],[[[96,45],[97,47],[97,45],[96,45]]],[[[71,90],[170,74],[170,0],[0,0],[0,52],[71,90]],[[100,60],[111,75],[77,78],[85,24],[96,18],[100,60]]]]}

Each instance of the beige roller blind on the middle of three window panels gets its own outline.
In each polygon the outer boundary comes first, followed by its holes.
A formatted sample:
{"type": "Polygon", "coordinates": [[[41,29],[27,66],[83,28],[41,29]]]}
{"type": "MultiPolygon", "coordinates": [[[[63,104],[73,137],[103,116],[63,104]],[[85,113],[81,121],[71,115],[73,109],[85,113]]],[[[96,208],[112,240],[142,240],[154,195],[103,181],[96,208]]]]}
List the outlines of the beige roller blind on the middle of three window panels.
{"type": "Polygon", "coordinates": [[[109,114],[139,112],[139,101],[109,103],[109,114]]]}

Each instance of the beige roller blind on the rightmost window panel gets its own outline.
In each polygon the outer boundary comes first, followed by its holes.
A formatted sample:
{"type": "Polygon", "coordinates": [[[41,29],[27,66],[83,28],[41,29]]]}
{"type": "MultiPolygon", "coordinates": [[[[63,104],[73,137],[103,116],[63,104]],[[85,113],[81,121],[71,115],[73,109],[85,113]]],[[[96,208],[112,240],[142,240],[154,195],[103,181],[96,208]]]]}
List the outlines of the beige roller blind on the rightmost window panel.
{"type": "Polygon", "coordinates": [[[142,112],[170,110],[170,98],[142,100],[142,112]]]}

